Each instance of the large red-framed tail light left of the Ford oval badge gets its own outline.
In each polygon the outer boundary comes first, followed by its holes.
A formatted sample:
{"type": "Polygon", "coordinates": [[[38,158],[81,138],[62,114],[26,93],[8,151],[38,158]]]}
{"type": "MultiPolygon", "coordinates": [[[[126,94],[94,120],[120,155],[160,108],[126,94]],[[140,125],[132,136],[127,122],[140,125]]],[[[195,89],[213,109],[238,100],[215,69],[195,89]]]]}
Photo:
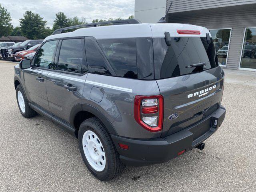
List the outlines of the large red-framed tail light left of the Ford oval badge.
{"type": "Polygon", "coordinates": [[[146,130],[162,130],[164,116],[164,99],[162,95],[139,96],[134,99],[134,118],[146,130]]]}

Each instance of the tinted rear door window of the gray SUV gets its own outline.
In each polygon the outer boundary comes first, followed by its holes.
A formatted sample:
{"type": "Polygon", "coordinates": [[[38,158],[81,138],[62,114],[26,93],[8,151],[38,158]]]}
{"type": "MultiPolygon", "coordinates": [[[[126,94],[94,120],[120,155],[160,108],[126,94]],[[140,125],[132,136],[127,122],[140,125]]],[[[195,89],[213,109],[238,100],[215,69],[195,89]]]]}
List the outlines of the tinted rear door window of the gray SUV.
{"type": "Polygon", "coordinates": [[[62,40],[58,70],[85,73],[86,59],[84,57],[84,39],[62,40]]]}

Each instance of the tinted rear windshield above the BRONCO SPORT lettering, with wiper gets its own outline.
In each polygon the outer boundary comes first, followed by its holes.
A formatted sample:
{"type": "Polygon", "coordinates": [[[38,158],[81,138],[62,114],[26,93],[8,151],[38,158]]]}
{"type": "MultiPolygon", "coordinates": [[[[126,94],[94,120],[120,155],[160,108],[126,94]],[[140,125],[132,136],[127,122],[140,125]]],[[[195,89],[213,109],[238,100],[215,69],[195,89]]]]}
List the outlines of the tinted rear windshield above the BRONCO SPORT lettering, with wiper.
{"type": "Polygon", "coordinates": [[[214,44],[206,38],[172,38],[167,46],[164,38],[153,38],[155,79],[191,74],[218,66],[214,44]],[[205,62],[205,67],[188,67],[205,62]]]}

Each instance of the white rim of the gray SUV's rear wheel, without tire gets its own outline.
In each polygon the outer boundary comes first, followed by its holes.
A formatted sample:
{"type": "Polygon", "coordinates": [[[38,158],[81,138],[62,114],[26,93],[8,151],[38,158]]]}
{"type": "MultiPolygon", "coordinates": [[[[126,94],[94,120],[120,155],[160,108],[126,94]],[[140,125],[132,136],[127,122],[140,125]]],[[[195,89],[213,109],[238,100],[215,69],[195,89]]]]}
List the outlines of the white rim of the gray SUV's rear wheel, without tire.
{"type": "Polygon", "coordinates": [[[102,142],[91,130],[84,132],[82,138],[84,155],[92,168],[98,172],[106,166],[106,154],[102,142]]]}

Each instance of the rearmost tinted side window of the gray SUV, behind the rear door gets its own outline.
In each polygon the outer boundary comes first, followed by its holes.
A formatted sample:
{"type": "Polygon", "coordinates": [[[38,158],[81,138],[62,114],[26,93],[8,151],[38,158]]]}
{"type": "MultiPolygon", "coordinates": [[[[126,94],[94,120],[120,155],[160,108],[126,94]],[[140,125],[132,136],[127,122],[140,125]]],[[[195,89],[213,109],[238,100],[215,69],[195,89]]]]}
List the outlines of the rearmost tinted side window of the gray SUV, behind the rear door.
{"type": "Polygon", "coordinates": [[[117,76],[138,78],[136,38],[98,39],[97,42],[117,76]]]}

